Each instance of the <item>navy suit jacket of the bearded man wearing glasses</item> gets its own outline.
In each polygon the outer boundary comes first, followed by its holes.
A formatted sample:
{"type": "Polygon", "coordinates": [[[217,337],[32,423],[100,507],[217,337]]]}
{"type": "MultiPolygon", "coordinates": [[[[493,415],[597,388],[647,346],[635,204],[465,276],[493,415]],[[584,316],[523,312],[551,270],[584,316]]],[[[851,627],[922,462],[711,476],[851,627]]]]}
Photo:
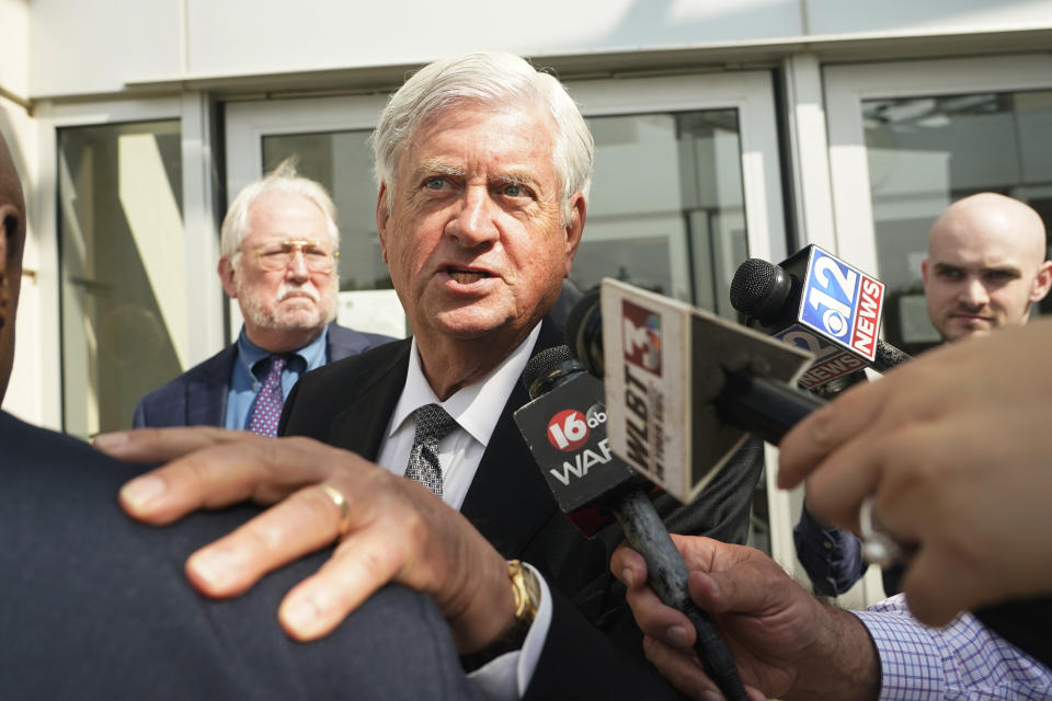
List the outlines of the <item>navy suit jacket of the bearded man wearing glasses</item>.
{"type": "MultiPolygon", "coordinates": [[[[364,333],[335,323],[329,324],[327,355],[329,363],[392,341],[390,336],[364,333]]],[[[238,357],[230,344],[207,360],[186,370],[174,380],[146,394],[135,407],[132,425],[148,426],[224,426],[230,374],[238,357]]]]}

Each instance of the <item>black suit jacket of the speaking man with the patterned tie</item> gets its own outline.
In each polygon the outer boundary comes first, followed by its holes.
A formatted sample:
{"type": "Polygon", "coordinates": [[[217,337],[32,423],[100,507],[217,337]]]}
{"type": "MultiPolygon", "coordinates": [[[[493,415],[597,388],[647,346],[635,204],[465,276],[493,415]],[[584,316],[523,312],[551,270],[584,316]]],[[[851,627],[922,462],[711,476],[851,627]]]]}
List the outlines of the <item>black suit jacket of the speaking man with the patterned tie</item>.
{"type": "MultiPolygon", "coordinates": [[[[562,330],[545,320],[534,353],[562,343],[562,330]]],[[[311,436],[376,460],[405,382],[410,347],[409,340],[398,341],[306,374],[285,402],[279,435],[311,436]]],[[[528,401],[525,388],[516,384],[460,512],[501,554],[536,566],[587,621],[639,658],[641,634],[625,605],[624,589],[609,574],[609,556],[621,540],[620,529],[613,525],[587,540],[559,510],[512,416],[528,401]]],[[[763,446],[752,441],[697,502],[677,508],[665,495],[659,512],[676,532],[743,542],[762,468],[763,446]]],[[[587,647],[579,643],[579,650],[587,647]]],[[[568,650],[574,646],[572,641],[563,644],[568,650]]],[[[572,660],[564,662],[570,666],[557,674],[573,668],[572,660]]]]}

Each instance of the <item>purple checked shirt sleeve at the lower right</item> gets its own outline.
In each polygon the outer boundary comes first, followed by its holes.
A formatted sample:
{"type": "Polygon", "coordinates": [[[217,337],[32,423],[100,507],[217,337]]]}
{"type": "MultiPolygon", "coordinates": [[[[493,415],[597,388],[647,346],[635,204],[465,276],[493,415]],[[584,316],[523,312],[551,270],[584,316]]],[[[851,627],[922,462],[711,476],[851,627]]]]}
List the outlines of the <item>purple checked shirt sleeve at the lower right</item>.
{"type": "Polygon", "coordinates": [[[1052,670],[970,613],[928,628],[910,614],[902,595],[854,613],[880,655],[881,701],[1052,699],[1052,670]]]}

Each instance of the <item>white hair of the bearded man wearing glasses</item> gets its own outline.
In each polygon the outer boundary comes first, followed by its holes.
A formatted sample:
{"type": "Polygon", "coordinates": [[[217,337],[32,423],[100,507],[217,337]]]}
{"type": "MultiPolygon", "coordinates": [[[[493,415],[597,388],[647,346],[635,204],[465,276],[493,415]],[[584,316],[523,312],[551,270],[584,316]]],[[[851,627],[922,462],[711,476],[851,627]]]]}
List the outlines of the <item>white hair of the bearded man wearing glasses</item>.
{"type": "Polygon", "coordinates": [[[241,242],[249,235],[249,209],[261,195],[272,192],[287,193],[306,197],[321,210],[325,217],[325,229],[332,239],[332,245],[340,250],[340,230],[336,228],[336,206],[324,186],[296,172],[296,157],[282,161],[277,168],[258,181],[245,185],[222,219],[219,248],[222,255],[239,253],[241,242]]]}

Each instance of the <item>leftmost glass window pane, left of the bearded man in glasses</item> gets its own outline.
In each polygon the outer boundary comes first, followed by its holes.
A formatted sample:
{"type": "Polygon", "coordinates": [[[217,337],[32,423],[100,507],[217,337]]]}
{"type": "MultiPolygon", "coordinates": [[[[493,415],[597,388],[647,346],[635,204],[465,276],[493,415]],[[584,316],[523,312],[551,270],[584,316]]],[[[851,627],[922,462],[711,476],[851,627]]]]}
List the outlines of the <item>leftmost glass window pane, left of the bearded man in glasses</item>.
{"type": "Polygon", "coordinates": [[[179,122],[60,129],[58,177],[64,424],[90,436],[186,365],[179,122]]]}

